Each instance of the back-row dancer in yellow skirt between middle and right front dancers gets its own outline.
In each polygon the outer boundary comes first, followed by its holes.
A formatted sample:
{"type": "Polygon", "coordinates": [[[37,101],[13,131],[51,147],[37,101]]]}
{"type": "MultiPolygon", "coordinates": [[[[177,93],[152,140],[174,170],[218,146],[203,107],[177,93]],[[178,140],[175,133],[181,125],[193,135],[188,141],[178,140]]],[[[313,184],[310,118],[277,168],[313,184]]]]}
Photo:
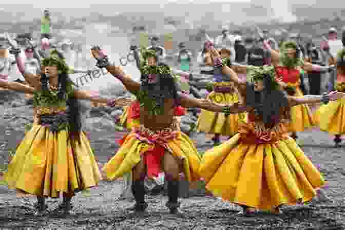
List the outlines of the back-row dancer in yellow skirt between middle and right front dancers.
{"type": "MultiPolygon", "coordinates": [[[[221,49],[220,55],[222,58],[229,60],[231,51],[228,49],[221,49]]],[[[214,75],[215,82],[213,84],[213,91],[207,95],[207,100],[217,104],[233,104],[240,101],[239,94],[233,82],[225,81],[222,74],[214,75]]],[[[198,119],[198,131],[206,133],[214,133],[214,145],[220,144],[220,136],[232,137],[238,132],[238,123],[246,118],[246,113],[230,114],[225,117],[223,113],[201,110],[198,119]]]]}

